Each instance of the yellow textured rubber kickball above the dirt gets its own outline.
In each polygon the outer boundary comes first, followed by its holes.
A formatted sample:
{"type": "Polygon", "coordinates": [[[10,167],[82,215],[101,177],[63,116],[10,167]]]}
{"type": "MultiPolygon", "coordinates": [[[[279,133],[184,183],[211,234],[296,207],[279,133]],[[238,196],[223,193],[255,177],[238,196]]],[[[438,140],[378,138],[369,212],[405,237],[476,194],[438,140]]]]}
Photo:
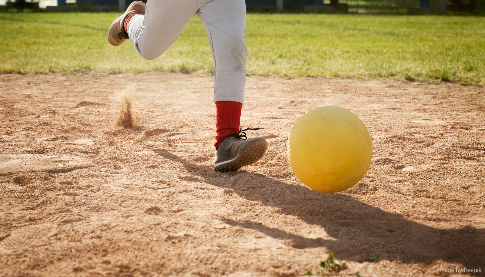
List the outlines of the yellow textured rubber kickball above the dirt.
{"type": "Polygon", "coordinates": [[[320,192],[339,192],[356,185],[369,169],[371,136],[351,111],[316,108],[291,129],[288,158],[303,184],[320,192]]]}

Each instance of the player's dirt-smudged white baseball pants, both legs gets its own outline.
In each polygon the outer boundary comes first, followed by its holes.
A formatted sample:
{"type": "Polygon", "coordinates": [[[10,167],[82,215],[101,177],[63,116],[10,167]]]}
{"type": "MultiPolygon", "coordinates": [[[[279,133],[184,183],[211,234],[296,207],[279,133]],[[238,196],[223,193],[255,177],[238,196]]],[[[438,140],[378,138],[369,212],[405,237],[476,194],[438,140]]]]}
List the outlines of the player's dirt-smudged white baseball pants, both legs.
{"type": "Polygon", "coordinates": [[[197,13],[204,24],[215,65],[214,102],[244,101],[247,48],[244,0],[147,0],[145,15],[135,15],[128,35],[147,60],[161,56],[197,13]]]}

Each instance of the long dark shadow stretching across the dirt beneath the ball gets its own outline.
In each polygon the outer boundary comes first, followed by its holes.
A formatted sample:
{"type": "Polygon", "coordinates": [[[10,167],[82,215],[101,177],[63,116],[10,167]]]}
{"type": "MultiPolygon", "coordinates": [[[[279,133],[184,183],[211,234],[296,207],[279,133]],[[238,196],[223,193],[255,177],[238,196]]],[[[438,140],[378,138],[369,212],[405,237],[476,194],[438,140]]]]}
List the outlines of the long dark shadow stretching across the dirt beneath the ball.
{"type": "MultiPolygon", "coordinates": [[[[430,264],[434,260],[443,260],[484,270],[485,229],[470,226],[436,229],[348,195],[320,193],[243,170],[238,173],[208,172],[207,167],[190,163],[164,149],[154,152],[181,163],[187,171],[204,178],[210,185],[231,189],[247,200],[260,201],[266,206],[279,208],[282,214],[295,215],[308,224],[322,226],[336,240],[308,239],[258,222],[222,218],[230,225],[254,229],[277,239],[291,240],[289,245],[295,248],[324,246],[339,259],[364,262],[377,255],[379,260],[406,263],[430,264]],[[221,178],[225,182],[221,183],[221,178]]],[[[477,276],[483,276],[483,273],[477,276]]]]}

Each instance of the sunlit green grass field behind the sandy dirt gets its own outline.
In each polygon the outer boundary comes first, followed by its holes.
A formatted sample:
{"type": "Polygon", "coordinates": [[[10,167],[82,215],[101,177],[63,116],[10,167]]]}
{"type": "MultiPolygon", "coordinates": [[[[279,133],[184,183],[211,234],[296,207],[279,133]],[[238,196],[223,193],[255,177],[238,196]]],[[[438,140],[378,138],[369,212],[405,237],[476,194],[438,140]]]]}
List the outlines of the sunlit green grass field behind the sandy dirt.
{"type": "MultiPolygon", "coordinates": [[[[161,57],[109,45],[117,14],[0,14],[0,72],[213,74],[197,16],[161,57]]],[[[285,77],[394,77],[485,85],[485,20],[465,16],[248,14],[247,72],[285,77]]]]}

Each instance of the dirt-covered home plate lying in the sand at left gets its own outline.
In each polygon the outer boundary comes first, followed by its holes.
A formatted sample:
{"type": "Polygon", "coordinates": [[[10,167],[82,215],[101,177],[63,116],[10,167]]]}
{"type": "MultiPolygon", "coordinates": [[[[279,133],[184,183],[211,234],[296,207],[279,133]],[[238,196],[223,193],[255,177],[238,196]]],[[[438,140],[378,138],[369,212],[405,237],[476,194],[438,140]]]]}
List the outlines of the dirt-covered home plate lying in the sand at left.
{"type": "Polygon", "coordinates": [[[91,162],[73,156],[0,154],[0,175],[16,174],[31,170],[61,173],[95,166],[96,165],[91,162]]]}

